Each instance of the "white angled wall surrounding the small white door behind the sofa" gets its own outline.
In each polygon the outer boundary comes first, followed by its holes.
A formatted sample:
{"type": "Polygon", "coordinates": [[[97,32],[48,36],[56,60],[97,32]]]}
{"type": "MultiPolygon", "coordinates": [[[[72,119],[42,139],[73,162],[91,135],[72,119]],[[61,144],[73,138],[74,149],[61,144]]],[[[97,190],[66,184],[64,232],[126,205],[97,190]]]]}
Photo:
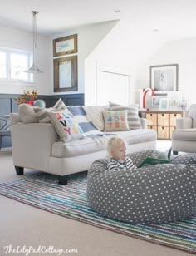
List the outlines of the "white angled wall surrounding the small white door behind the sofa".
{"type": "MultiPolygon", "coordinates": [[[[167,41],[151,31],[135,30],[134,24],[124,19],[116,23],[85,61],[85,103],[96,104],[97,66],[110,66],[112,69],[130,74],[130,104],[139,103],[137,76],[140,67],[167,41]]],[[[144,87],[144,86],[142,86],[144,87]]],[[[119,86],[120,92],[120,86],[119,86]]],[[[104,93],[104,91],[103,91],[104,93]]],[[[120,96],[120,95],[119,95],[120,96]]]]}

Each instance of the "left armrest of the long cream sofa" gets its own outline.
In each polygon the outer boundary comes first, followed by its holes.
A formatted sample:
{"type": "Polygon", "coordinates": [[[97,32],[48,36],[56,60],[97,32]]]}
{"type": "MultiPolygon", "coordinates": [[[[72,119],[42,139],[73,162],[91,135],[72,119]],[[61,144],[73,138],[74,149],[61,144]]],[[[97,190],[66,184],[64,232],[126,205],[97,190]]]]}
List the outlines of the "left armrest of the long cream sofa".
{"type": "Polygon", "coordinates": [[[51,148],[58,139],[52,124],[17,123],[11,126],[12,157],[15,166],[49,169],[51,148]]]}

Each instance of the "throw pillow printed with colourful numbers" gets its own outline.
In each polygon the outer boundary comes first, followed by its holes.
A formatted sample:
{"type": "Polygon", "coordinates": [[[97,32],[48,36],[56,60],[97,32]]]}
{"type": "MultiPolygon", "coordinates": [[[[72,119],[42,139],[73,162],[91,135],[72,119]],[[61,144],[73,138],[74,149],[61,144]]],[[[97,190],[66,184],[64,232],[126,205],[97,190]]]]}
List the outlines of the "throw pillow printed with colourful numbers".
{"type": "Polygon", "coordinates": [[[127,121],[127,111],[104,111],[106,131],[130,130],[127,121]]]}

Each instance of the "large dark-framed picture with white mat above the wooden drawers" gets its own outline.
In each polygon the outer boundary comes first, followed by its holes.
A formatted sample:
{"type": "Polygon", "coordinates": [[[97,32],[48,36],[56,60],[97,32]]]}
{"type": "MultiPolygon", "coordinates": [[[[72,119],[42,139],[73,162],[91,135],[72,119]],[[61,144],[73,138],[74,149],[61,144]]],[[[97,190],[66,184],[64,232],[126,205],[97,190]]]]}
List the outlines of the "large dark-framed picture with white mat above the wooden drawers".
{"type": "Polygon", "coordinates": [[[154,92],[178,91],[179,65],[150,66],[150,87],[154,92]]]}

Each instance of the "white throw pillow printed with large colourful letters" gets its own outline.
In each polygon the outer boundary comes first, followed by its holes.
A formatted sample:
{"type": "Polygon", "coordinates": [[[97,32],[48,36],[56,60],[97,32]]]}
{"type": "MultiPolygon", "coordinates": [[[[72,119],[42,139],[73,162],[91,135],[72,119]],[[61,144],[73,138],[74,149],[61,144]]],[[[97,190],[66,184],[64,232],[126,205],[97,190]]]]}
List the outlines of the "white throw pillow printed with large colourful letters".
{"type": "Polygon", "coordinates": [[[76,118],[72,118],[68,111],[51,111],[47,114],[63,142],[80,140],[86,137],[76,118]]]}

